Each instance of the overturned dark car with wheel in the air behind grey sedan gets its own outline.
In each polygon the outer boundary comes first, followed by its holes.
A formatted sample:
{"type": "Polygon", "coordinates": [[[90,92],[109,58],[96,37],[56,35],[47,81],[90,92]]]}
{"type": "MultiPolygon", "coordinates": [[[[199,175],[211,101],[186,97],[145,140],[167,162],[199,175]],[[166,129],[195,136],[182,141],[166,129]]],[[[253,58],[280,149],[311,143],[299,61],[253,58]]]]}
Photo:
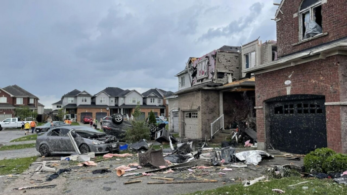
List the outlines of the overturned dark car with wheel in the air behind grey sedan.
{"type": "Polygon", "coordinates": [[[106,116],[102,119],[102,130],[108,134],[116,136],[119,139],[124,138],[126,128],[131,127],[129,121],[124,121],[122,114],[106,116]]]}

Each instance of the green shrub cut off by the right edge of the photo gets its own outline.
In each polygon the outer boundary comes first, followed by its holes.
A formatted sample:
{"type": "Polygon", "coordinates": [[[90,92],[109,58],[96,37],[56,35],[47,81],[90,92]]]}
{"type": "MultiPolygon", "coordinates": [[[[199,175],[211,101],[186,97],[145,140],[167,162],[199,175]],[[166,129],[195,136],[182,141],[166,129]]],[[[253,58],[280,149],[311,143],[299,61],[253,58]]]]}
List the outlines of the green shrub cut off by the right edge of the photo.
{"type": "Polygon", "coordinates": [[[323,169],[327,173],[337,173],[347,170],[347,155],[335,154],[328,157],[323,163],[323,169]]]}

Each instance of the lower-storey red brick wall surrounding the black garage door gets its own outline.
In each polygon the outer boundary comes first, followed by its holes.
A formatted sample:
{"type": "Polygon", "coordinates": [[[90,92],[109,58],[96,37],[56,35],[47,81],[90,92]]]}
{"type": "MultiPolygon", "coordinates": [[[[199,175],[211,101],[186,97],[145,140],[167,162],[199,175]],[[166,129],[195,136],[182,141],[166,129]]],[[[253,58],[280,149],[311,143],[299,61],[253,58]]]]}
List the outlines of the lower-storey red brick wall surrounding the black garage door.
{"type": "MultiPolygon", "coordinates": [[[[255,75],[256,106],[264,106],[264,101],[272,97],[287,95],[287,85],[284,84],[286,80],[291,81],[290,94],[325,95],[326,102],[340,102],[339,67],[342,64],[338,62],[346,61],[345,56],[332,56],[326,60],[316,60],[255,75]]],[[[326,106],[328,147],[337,152],[342,152],[340,114],[340,106],[326,106]]],[[[257,109],[256,123],[258,141],[264,142],[264,109],[257,109]]]]}

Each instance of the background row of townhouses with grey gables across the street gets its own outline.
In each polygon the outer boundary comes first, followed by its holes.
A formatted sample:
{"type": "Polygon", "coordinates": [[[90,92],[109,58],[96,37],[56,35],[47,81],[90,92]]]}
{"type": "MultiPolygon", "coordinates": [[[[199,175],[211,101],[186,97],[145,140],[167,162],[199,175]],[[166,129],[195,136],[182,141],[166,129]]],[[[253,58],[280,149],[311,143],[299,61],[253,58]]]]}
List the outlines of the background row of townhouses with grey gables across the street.
{"type": "Polygon", "coordinates": [[[63,109],[64,113],[67,113],[66,118],[76,121],[82,121],[84,116],[100,120],[116,113],[132,117],[139,102],[143,118],[147,118],[151,111],[156,116],[167,116],[168,106],[164,98],[172,93],[158,88],[140,93],[137,90],[107,87],[92,95],[87,91],[74,89],[64,94],[59,102],[52,104],[53,114],[58,114],[58,110],[63,109]]]}

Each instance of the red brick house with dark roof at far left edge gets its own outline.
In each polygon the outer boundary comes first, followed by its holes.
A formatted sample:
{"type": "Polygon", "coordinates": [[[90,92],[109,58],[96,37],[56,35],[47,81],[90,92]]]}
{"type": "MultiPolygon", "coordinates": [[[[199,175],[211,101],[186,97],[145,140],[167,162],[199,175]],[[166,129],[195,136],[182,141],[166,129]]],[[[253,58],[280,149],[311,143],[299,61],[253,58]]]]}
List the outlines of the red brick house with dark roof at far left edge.
{"type": "Polygon", "coordinates": [[[32,111],[37,111],[39,117],[44,114],[45,106],[38,102],[38,97],[18,85],[0,88],[0,121],[15,116],[15,109],[28,106],[32,111]]]}

